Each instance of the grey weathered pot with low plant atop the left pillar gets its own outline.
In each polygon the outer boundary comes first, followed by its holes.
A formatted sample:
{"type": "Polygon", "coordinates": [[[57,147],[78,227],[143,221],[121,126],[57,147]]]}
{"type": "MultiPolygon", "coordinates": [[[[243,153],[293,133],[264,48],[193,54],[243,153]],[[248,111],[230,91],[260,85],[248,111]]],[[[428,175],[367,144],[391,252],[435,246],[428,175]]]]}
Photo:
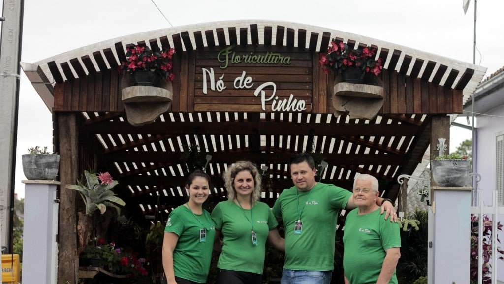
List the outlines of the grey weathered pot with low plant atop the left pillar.
{"type": "Polygon", "coordinates": [[[28,154],[21,156],[23,173],[28,180],[54,180],[58,174],[59,155],[47,152],[47,147],[28,148],[28,154]]]}

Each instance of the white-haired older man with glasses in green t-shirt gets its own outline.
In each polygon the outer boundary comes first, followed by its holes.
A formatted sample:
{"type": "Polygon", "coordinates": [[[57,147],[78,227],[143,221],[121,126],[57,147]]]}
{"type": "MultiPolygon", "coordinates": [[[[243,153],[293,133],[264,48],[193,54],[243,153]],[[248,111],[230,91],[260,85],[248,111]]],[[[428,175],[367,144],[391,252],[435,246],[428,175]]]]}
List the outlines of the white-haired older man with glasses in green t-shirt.
{"type": "Polygon", "coordinates": [[[380,216],[378,180],[360,175],[354,181],[356,209],[345,220],[343,268],[348,284],[397,284],[396,266],[401,257],[399,225],[380,216]]]}

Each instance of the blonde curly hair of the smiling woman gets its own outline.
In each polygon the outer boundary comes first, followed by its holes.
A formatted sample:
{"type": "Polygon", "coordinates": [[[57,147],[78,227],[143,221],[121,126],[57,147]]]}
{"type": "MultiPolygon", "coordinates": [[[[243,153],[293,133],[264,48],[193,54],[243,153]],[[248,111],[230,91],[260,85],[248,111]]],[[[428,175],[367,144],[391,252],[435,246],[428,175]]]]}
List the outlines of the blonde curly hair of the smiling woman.
{"type": "Polygon", "coordinates": [[[255,164],[249,161],[237,161],[232,164],[224,174],[224,184],[228,192],[228,199],[234,200],[236,198],[236,191],[234,189],[234,178],[238,173],[247,171],[254,178],[254,191],[251,194],[252,203],[261,198],[261,175],[255,164]]]}

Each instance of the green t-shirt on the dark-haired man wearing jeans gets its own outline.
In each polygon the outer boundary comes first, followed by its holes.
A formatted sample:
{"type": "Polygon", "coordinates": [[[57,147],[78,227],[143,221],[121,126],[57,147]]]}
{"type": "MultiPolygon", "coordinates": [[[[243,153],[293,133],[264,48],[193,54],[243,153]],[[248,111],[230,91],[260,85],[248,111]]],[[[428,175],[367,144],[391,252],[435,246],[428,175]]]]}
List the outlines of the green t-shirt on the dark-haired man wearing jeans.
{"type": "Polygon", "coordinates": [[[307,192],[295,186],[280,194],[273,213],[285,225],[285,265],[292,270],[326,271],[334,269],[336,219],[352,195],[349,191],[317,183],[307,192]],[[301,213],[301,234],[294,234],[295,222],[301,213]]]}

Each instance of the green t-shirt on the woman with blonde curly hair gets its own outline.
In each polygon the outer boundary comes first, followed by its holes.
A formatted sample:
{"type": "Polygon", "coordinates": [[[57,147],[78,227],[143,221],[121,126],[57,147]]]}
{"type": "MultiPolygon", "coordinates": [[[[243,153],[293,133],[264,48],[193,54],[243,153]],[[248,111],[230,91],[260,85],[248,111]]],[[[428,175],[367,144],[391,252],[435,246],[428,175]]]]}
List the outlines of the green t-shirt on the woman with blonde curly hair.
{"type": "Polygon", "coordinates": [[[219,202],[212,211],[215,229],[224,236],[217,267],[263,273],[268,233],[277,227],[278,222],[266,203],[258,201],[251,210],[257,245],[252,243],[250,210],[242,209],[233,201],[227,200],[219,202]]]}

